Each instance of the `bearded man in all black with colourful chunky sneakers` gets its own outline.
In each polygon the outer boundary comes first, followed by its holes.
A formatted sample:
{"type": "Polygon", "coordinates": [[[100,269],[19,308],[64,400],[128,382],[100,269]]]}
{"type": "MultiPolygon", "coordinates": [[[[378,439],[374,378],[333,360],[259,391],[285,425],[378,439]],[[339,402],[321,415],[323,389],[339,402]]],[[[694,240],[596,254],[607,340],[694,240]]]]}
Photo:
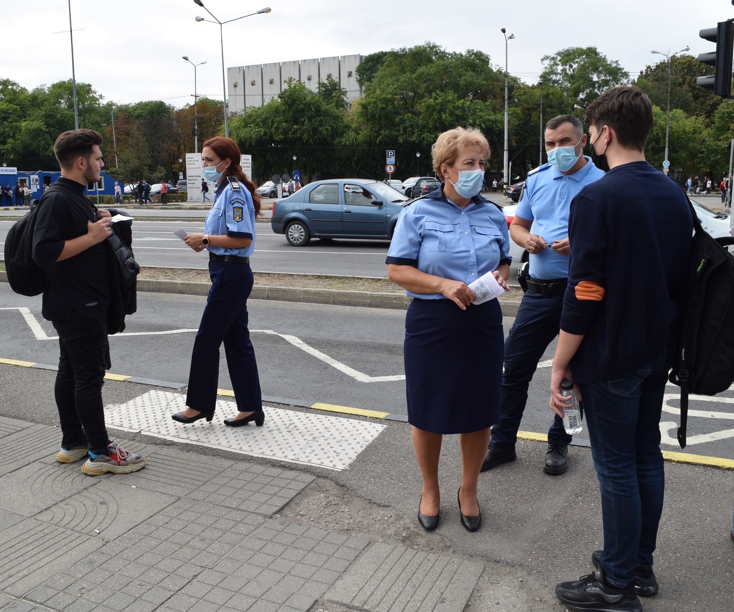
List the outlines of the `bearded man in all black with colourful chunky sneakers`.
{"type": "Polygon", "coordinates": [[[145,467],[142,456],[111,442],[102,407],[104,372],[110,368],[107,311],[110,284],[106,239],[109,211],[96,211],[84,189],[104,167],[93,130],[67,131],[54,144],[61,177],[43,194],[33,230],[33,261],[43,269],[43,318],[59,333],[59,371],[54,387],[62,448],[57,461],[87,459],[94,475],[145,467]]]}

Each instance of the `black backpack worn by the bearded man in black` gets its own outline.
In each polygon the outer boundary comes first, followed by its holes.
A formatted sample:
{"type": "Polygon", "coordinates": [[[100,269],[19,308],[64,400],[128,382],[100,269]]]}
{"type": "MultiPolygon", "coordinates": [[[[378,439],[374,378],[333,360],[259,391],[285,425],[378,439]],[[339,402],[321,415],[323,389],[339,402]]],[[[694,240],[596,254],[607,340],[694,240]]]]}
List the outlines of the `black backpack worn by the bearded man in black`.
{"type": "Polygon", "coordinates": [[[30,211],[13,224],[5,237],[7,280],[16,294],[24,296],[43,293],[43,269],[33,261],[33,230],[36,227],[39,206],[38,200],[32,200],[30,211]]]}

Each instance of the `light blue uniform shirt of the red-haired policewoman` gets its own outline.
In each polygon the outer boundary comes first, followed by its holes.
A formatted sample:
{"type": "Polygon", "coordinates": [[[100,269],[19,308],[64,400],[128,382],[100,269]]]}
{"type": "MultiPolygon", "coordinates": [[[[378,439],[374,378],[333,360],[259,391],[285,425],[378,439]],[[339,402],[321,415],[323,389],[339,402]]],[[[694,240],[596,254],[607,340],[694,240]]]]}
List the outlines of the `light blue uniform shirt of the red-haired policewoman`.
{"type": "Polygon", "coordinates": [[[204,233],[212,236],[232,236],[233,238],[252,238],[249,247],[228,249],[225,247],[206,247],[214,255],[237,255],[250,257],[255,250],[255,206],[252,204],[252,195],[239,181],[225,180],[219,183],[214,204],[204,223],[204,233]],[[236,186],[239,185],[239,191],[236,186]]]}

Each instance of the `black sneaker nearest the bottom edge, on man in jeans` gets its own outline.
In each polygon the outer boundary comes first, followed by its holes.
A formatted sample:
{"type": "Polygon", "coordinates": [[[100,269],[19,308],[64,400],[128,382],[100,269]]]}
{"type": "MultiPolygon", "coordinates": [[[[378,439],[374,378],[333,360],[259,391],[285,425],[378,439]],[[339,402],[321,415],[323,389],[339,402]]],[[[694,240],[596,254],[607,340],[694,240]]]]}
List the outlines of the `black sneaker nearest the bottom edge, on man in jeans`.
{"type": "Polygon", "coordinates": [[[572,610],[581,612],[642,612],[632,585],[620,589],[604,578],[604,570],[556,585],[556,596],[572,610]]]}

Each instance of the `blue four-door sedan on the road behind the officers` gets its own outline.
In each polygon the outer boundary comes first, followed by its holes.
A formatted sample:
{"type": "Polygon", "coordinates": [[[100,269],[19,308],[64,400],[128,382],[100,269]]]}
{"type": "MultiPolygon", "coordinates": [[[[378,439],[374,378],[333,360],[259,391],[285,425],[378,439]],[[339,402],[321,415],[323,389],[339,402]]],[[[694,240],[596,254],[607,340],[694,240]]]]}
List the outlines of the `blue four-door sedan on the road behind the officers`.
{"type": "Polygon", "coordinates": [[[270,226],[275,233],[286,234],[294,247],[305,247],[311,238],[390,240],[407,201],[379,181],[316,181],[287,200],[275,200],[270,226]]]}

